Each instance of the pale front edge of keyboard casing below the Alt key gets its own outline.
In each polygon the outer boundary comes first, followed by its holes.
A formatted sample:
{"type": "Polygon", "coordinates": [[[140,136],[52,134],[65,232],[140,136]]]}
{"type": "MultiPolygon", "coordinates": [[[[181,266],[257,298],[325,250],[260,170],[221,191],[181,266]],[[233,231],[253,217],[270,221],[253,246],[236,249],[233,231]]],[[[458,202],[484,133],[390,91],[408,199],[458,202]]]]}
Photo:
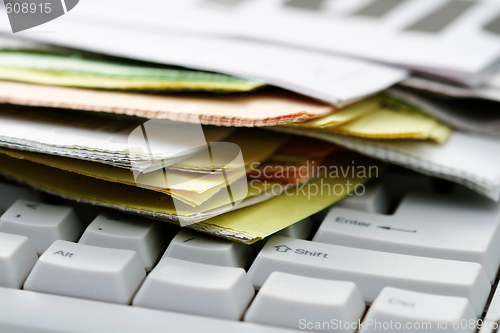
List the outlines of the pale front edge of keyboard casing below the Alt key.
{"type": "Polygon", "coordinates": [[[289,329],[0,287],[1,332],[290,333],[289,329]]]}

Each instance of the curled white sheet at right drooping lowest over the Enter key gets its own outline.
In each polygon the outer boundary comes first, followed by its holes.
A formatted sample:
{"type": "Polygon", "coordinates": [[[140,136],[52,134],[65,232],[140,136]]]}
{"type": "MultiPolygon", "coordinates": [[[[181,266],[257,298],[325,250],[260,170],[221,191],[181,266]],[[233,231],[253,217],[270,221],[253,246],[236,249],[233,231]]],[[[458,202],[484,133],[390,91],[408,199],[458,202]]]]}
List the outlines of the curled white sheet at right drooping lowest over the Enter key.
{"type": "Polygon", "coordinates": [[[333,142],[367,156],[465,185],[500,201],[500,137],[454,132],[444,144],[420,140],[370,140],[307,129],[274,129],[333,142]]]}

